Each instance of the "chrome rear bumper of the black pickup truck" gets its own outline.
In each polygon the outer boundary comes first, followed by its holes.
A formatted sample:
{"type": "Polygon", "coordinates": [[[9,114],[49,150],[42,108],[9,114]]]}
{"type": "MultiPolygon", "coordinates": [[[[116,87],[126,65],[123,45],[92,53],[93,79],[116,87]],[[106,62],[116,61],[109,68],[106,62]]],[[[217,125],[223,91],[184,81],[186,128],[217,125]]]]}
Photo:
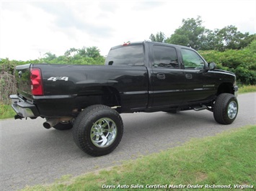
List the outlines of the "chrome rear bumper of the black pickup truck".
{"type": "Polygon", "coordinates": [[[35,105],[28,103],[20,98],[18,95],[10,95],[12,99],[12,108],[21,117],[37,117],[40,116],[35,105]]]}

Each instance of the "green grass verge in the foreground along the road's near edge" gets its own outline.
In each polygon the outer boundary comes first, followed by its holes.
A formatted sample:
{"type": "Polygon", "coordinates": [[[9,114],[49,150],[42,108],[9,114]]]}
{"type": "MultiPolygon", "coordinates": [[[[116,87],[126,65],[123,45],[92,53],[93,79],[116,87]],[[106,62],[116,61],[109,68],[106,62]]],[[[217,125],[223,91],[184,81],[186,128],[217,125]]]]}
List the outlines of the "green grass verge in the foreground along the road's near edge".
{"type": "MultiPolygon", "coordinates": [[[[53,185],[36,185],[24,190],[100,190],[102,185],[254,185],[256,187],[256,126],[229,130],[205,139],[193,139],[158,154],[84,174],[70,176],[53,185]]],[[[181,189],[177,189],[181,190],[181,189]]],[[[205,190],[205,189],[203,189],[205,190]]],[[[219,190],[219,189],[211,189],[219,190]]],[[[225,189],[221,189],[225,190],[225,189]]]]}

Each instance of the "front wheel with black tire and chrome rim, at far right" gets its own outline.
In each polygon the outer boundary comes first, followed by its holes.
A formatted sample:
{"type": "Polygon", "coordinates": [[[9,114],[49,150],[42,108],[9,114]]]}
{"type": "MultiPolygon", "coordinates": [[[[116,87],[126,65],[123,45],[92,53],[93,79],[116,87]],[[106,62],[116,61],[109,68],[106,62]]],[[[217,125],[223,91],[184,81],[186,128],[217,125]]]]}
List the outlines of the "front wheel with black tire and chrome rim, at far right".
{"type": "Polygon", "coordinates": [[[232,124],[237,118],[238,102],[231,93],[221,93],[213,106],[213,116],[219,124],[232,124]]]}

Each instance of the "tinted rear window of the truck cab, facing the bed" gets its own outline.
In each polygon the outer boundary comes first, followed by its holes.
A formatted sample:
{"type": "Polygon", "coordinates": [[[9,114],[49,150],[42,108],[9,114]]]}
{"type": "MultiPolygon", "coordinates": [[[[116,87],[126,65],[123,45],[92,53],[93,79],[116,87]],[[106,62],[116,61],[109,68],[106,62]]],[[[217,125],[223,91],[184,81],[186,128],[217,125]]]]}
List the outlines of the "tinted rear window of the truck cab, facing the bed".
{"type": "Polygon", "coordinates": [[[144,65],[142,45],[129,45],[110,50],[105,65],[144,65]]]}

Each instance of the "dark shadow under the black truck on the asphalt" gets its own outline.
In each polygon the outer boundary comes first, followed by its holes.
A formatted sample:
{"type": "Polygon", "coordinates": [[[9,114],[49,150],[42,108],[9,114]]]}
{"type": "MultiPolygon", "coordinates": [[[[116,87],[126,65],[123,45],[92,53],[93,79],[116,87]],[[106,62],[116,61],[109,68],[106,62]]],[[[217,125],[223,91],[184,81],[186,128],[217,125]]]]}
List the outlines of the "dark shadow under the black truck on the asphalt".
{"type": "MultiPolygon", "coordinates": [[[[203,136],[211,132],[212,126],[218,126],[208,111],[183,111],[176,114],[124,113],[121,114],[124,124],[123,139],[113,152],[114,154],[146,154],[180,144],[192,137],[203,136]]],[[[74,143],[72,130],[46,130],[42,127],[40,134],[32,136],[27,142],[27,149],[43,154],[61,154],[68,156],[89,157],[74,143]]]]}

